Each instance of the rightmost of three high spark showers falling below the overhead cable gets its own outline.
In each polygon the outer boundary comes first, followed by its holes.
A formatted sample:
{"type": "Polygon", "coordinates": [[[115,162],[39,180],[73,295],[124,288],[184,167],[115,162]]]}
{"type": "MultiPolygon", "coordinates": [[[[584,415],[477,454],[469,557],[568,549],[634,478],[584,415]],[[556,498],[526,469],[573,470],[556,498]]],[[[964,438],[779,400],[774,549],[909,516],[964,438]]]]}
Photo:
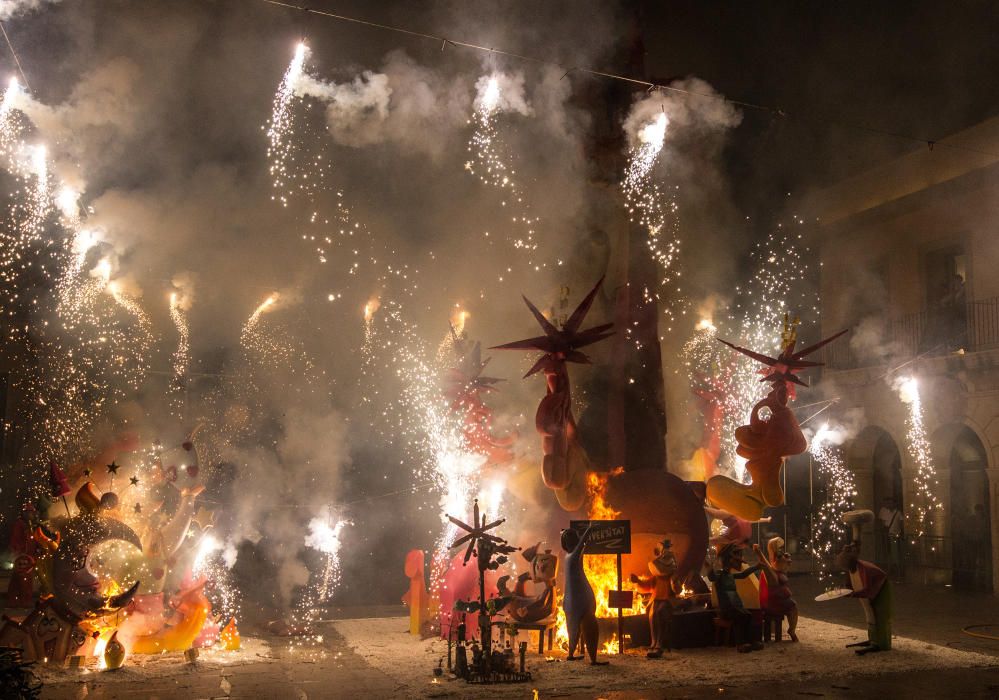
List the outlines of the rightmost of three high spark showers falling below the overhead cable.
{"type": "Polygon", "coordinates": [[[676,201],[676,188],[664,194],[653,179],[653,167],[666,141],[669,119],[665,113],[645,125],[638,132],[638,145],[631,149],[628,166],[621,182],[629,220],[648,232],[646,245],[660,272],[662,293],[647,292],[662,302],[669,322],[675,320],[677,311],[682,313],[680,298],[680,219],[676,201]]]}

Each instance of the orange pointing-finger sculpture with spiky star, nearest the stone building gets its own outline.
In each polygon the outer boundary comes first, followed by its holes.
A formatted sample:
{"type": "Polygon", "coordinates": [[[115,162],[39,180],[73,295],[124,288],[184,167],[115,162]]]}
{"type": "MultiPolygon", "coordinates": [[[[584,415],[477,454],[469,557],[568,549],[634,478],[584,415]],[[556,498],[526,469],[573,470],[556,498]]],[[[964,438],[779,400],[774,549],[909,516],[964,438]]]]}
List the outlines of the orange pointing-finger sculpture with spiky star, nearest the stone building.
{"type": "Polygon", "coordinates": [[[752,479],[751,483],[741,484],[721,475],[708,480],[708,499],[719,508],[744,520],[759,520],[765,508],[783,505],[781,466],[785,458],[801,454],[807,446],[801,427],[787,405],[794,398],[795,384],[808,386],[795,375],[808,367],[821,366],[821,362],[810,362],[802,358],[846,333],[845,330],[840,331],[815,345],[795,351],[797,323],[797,319],[789,321],[787,315],[784,316],[783,349],[777,357],[769,357],[721,341],[766,365],[769,369],[763,370],[764,376],[760,381],[773,384],[770,393],[753,406],[749,425],[740,426],[735,431],[735,439],[739,444],[736,453],[746,459],[746,471],[752,479]]]}

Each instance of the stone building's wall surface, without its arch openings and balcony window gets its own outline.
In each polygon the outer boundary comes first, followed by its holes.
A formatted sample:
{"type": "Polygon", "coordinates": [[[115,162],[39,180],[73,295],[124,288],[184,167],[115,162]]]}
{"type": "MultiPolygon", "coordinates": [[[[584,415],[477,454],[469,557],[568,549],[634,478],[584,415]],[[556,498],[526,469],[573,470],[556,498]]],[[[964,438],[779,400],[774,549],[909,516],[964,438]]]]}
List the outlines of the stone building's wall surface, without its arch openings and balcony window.
{"type": "MultiPolygon", "coordinates": [[[[879,436],[888,435],[901,456],[903,510],[911,533],[919,465],[907,437],[909,406],[900,400],[891,383],[903,375],[918,378],[924,428],[936,475],[934,493],[941,505],[927,542],[952,548],[955,518],[964,517],[961,511],[967,510],[966,503],[951,502],[952,480],[974,481],[974,488],[983,491],[982,500],[987,496],[989,501],[992,582],[996,590],[999,350],[970,344],[963,352],[953,352],[953,348],[900,347],[883,330],[891,319],[923,314],[925,323],[927,315],[933,313],[937,300],[931,298],[927,261],[933,251],[949,246],[960,246],[965,255],[967,300],[980,302],[999,297],[999,158],[987,155],[999,154],[999,119],[952,138],[954,143],[973,146],[975,151],[916,152],[810,198],[810,211],[819,222],[823,330],[830,334],[852,327],[849,343],[853,364],[841,366],[861,367],[827,369],[822,382],[827,395],[840,397],[837,412],[855,419],[854,439],[844,445],[844,450],[857,481],[857,506],[877,512],[881,505],[874,494],[874,446],[879,436]],[[880,354],[871,353],[869,347],[865,350],[865,344],[880,344],[880,354]],[[867,354],[861,357],[864,352],[867,354]],[[872,357],[877,361],[870,361],[872,357]],[[980,471],[973,475],[974,479],[957,469],[951,471],[952,451],[963,428],[970,430],[984,448],[985,479],[980,471]]],[[[965,494],[960,489],[954,491],[965,494]]],[[[965,496],[965,500],[968,498],[977,496],[965,496]]],[[[930,559],[935,555],[941,555],[937,563],[945,566],[921,571],[917,576],[950,583],[952,572],[946,568],[950,554],[928,552],[930,559]]]]}

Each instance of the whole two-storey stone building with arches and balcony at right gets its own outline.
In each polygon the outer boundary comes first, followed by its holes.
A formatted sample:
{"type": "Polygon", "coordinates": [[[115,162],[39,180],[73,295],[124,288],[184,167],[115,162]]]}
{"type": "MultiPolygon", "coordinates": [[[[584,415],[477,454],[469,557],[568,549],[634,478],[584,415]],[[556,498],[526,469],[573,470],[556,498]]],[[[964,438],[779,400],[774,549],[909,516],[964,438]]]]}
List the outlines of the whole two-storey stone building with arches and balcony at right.
{"type": "Polygon", "coordinates": [[[858,507],[892,496],[907,578],[999,584],[999,117],[815,193],[821,240],[823,384],[853,419],[843,448],[858,507]],[[918,387],[936,473],[929,532],[914,537],[918,387]],[[893,388],[894,387],[894,388],[893,388]]]}

